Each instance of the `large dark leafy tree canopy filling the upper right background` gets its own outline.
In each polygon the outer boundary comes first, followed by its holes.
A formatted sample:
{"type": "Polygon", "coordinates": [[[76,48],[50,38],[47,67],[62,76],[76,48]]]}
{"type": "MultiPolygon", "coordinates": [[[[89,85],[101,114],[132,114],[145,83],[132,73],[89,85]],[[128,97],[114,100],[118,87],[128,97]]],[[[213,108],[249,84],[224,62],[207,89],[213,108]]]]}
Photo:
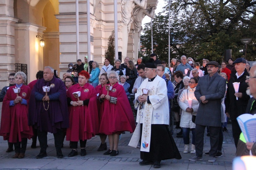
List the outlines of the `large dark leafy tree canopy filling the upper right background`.
{"type": "MultiPolygon", "coordinates": [[[[168,0],[166,0],[168,2],[168,0]]],[[[243,57],[242,38],[256,38],[256,1],[253,0],[172,0],[170,4],[170,58],[181,55],[195,61],[223,60],[224,51],[243,57]]],[[[168,5],[153,19],[154,53],[168,61],[168,5]]],[[[146,54],[151,53],[151,23],[141,36],[146,54]]],[[[247,45],[246,58],[255,60],[255,45],[247,45]]]]}

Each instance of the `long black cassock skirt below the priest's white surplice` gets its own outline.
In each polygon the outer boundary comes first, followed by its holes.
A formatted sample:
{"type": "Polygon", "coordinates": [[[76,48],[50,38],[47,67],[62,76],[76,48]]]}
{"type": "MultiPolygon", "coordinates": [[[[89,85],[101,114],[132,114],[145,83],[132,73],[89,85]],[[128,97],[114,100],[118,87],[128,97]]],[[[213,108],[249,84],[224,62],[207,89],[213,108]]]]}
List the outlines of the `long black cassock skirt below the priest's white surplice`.
{"type": "Polygon", "coordinates": [[[141,151],[142,160],[160,161],[166,159],[181,159],[181,155],[168,129],[168,125],[152,124],[150,143],[149,152],[141,151]]]}

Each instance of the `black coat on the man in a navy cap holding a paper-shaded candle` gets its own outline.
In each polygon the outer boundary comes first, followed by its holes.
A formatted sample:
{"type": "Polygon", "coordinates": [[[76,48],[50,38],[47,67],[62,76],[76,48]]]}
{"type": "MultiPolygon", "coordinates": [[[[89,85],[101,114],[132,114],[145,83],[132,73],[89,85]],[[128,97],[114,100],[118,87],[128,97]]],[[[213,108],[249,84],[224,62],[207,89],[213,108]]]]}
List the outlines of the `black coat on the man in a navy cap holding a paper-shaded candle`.
{"type": "Polygon", "coordinates": [[[244,74],[237,78],[236,72],[231,73],[229,79],[229,88],[227,90],[226,98],[226,113],[229,113],[231,120],[236,120],[236,118],[244,113],[246,113],[246,107],[250,96],[246,94],[248,84],[245,82],[246,76],[249,76],[249,73],[245,69],[244,74]],[[240,82],[239,93],[243,94],[242,98],[236,100],[235,89],[233,87],[233,82],[240,82]]]}

